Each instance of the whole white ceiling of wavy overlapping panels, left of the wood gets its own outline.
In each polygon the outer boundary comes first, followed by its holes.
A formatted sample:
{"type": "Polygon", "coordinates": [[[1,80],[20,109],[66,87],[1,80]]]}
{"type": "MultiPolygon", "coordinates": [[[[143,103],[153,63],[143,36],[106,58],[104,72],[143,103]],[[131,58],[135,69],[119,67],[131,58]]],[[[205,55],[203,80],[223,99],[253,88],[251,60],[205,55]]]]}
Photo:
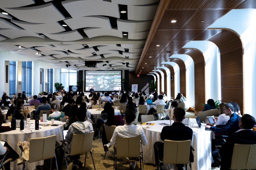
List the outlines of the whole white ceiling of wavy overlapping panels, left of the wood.
{"type": "Polygon", "coordinates": [[[135,71],[158,4],[159,0],[0,0],[0,50],[19,55],[21,61],[47,62],[49,68],[135,71]],[[89,61],[97,61],[96,68],[85,66],[89,61]]]}

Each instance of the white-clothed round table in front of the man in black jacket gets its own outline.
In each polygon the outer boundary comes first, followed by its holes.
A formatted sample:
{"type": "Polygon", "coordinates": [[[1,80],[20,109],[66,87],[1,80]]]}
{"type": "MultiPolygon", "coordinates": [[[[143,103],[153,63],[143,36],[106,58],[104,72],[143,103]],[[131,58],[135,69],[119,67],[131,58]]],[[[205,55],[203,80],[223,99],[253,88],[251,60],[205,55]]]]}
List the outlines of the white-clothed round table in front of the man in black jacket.
{"type": "MultiPolygon", "coordinates": [[[[194,122],[194,127],[197,126],[195,119],[190,119],[190,122],[194,122]]],[[[155,125],[153,125],[151,128],[145,128],[147,125],[141,125],[148,140],[148,144],[143,145],[143,160],[144,163],[155,164],[154,143],[157,141],[163,142],[160,134],[164,126],[159,125],[159,123],[170,124],[170,120],[149,121],[148,123],[155,123],[155,125]]],[[[192,169],[211,169],[211,131],[202,131],[198,128],[198,126],[197,128],[192,128],[192,130],[193,137],[191,146],[195,149],[195,151],[193,151],[194,162],[191,163],[192,169]]],[[[175,166],[172,165],[171,167],[175,166]]]]}

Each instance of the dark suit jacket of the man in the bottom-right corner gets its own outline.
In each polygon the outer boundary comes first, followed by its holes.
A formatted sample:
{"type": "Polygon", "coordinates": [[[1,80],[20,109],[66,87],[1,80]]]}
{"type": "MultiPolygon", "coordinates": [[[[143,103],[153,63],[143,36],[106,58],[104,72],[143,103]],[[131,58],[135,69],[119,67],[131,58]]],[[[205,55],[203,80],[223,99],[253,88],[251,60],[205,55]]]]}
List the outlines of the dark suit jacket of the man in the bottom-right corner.
{"type": "Polygon", "coordinates": [[[256,144],[256,132],[252,130],[242,130],[228,136],[226,143],[220,148],[221,169],[229,169],[235,143],[256,144]]]}

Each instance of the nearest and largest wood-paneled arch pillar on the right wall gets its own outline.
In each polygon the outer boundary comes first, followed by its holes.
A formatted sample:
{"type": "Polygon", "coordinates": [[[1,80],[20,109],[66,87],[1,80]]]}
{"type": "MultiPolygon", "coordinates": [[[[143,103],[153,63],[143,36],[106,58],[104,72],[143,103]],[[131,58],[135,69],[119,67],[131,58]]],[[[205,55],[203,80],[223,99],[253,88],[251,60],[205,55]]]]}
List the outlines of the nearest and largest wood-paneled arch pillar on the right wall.
{"type": "Polygon", "coordinates": [[[221,101],[234,101],[244,113],[243,43],[235,32],[224,29],[208,39],[220,49],[221,101]]]}

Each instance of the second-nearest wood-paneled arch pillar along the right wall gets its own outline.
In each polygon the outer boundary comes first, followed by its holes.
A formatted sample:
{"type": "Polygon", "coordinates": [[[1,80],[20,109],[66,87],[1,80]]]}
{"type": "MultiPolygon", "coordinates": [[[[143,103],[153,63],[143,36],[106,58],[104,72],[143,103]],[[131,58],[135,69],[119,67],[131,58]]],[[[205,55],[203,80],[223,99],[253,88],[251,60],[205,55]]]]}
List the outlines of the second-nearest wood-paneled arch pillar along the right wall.
{"type": "Polygon", "coordinates": [[[205,70],[204,55],[197,49],[192,49],[186,53],[194,60],[195,70],[195,114],[203,111],[205,104],[205,70]]]}

